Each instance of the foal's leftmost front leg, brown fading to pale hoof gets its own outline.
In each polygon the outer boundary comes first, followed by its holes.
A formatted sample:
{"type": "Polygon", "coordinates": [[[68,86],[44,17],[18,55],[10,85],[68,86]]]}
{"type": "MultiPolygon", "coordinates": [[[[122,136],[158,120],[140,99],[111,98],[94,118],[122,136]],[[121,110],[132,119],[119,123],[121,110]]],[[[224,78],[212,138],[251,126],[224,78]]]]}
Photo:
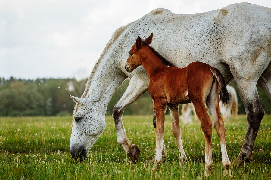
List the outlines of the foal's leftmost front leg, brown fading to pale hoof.
{"type": "Polygon", "coordinates": [[[164,137],[164,126],[165,126],[165,113],[166,113],[166,101],[165,100],[154,100],[154,110],[156,114],[156,149],[154,165],[152,170],[157,169],[157,165],[162,161],[163,153],[163,137],[164,137]]]}

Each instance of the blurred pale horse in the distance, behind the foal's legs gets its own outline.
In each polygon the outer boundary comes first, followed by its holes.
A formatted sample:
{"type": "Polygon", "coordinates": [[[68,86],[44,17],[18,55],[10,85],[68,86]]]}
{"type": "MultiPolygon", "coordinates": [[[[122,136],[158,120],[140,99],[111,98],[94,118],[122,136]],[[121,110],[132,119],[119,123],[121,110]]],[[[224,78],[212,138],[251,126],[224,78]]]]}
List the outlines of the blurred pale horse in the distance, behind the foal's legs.
{"type": "MultiPolygon", "coordinates": [[[[230,85],[227,85],[226,88],[227,88],[229,95],[230,95],[229,104],[223,105],[222,101],[219,101],[219,109],[220,109],[220,113],[223,116],[223,118],[226,119],[226,122],[229,122],[232,117],[232,114],[233,114],[234,119],[237,119],[238,100],[237,100],[237,94],[236,94],[235,89],[230,85]],[[231,111],[232,111],[232,113],[231,113],[231,111]]],[[[206,109],[208,109],[208,108],[206,107],[206,109]]],[[[182,105],[182,109],[181,109],[182,115],[180,117],[180,119],[182,119],[182,122],[184,122],[184,123],[192,122],[192,118],[191,118],[192,111],[195,116],[195,121],[198,121],[199,119],[198,119],[198,116],[196,115],[194,105],[192,103],[182,105]]]]}

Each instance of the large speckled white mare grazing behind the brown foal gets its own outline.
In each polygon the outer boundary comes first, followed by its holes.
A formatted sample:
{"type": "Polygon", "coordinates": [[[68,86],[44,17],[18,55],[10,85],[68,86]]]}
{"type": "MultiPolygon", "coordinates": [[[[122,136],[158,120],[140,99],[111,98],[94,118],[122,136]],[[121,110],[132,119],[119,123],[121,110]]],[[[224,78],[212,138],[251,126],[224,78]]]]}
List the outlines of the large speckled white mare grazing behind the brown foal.
{"type": "MultiPolygon", "coordinates": [[[[105,128],[109,100],[129,77],[131,81],[114,107],[113,118],[117,142],[134,162],[138,160],[140,150],[126,136],[122,114],[147,91],[149,78],[143,67],[128,73],[124,64],[137,36],[146,38],[151,32],[152,46],[177,67],[201,61],[219,69],[227,84],[235,79],[245,105],[248,129],[233,164],[250,160],[264,116],[256,85],[271,97],[271,9],[249,3],[191,15],[158,8],[117,29],[95,64],[82,97],[72,97],[76,102],[70,138],[72,157],[80,161],[87,157],[87,151],[105,128]]],[[[155,122],[154,116],[154,127],[155,122]]],[[[215,126],[216,123],[214,119],[215,126]]]]}

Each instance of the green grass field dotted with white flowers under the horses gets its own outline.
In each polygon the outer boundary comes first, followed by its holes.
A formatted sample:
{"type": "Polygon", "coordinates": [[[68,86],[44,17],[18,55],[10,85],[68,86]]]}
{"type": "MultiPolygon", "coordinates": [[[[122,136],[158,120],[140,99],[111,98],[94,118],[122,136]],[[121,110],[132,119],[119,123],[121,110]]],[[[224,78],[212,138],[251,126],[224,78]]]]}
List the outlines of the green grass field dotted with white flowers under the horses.
{"type": "MultiPolygon", "coordinates": [[[[226,124],[226,146],[230,160],[238,156],[247,122],[244,115],[226,124]]],[[[155,154],[152,116],[123,116],[131,143],[141,154],[135,165],[117,143],[114,120],[106,116],[106,128],[88,152],[89,157],[75,164],[70,157],[71,117],[0,117],[0,179],[221,179],[220,143],[213,128],[211,176],[204,177],[204,136],[199,122],[183,125],[182,139],[187,161],[179,167],[176,140],[166,116],[164,141],[167,157],[156,172],[151,159],[155,154]]],[[[271,115],[265,115],[256,139],[251,163],[232,167],[232,179],[270,179],[271,115]]],[[[231,179],[226,177],[225,179],[231,179]]]]}

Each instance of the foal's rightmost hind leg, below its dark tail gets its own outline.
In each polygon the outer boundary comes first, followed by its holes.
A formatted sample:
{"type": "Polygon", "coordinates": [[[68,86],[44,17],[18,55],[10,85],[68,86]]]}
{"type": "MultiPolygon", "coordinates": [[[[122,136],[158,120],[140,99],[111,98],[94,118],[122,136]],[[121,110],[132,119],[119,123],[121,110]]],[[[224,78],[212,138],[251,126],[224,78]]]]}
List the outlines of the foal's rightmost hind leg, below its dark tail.
{"type": "Polygon", "coordinates": [[[210,94],[207,96],[206,105],[213,116],[214,127],[216,129],[217,136],[220,140],[224,174],[225,175],[228,174],[229,176],[231,176],[231,173],[229,170],[231,166],[231,162],[229,160],[227,149],[226,149],[226,129],[224,127],[224,121],[219,111],[219,95],[218,95],[217,81],[213,83],[210,94]]]}

